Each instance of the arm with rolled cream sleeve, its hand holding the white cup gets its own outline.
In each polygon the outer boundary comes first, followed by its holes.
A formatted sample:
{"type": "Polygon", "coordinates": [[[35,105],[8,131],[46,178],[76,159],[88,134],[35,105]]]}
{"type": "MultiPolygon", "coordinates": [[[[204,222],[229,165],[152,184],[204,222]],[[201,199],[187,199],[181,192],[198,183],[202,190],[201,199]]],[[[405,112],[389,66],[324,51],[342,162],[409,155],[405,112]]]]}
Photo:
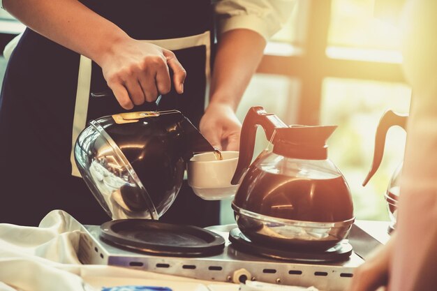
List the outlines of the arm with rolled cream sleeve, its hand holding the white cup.
{"type": "Polygon", "coordinates": [[[292,13],[295,0],[221,0],[216,4],[218,49],[209,106],[200,131],[218,149],[238,150],[235,110],[262,59],[267,40],[292,13]]]}

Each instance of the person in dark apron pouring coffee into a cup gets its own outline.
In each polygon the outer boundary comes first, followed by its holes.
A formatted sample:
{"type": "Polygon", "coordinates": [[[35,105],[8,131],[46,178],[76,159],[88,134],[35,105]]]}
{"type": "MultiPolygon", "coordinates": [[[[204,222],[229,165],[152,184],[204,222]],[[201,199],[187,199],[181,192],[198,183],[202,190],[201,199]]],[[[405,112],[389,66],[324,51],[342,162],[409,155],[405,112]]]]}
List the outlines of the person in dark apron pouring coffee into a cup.
{"type": "MultiPolygon", "coordinates": [[[[181,110],[215,147],[238,149],[235,110],[290,4],[3,0],[29,28],[10,57],[1,93],[0,222],[35,225],[52,209],[82,223],[107,221],[77,177],[72,144],[90,119],[149,110],[158,95],[160,110],[181,110]],[[203,114],[214,17],[220,34],[203,114]],[[89,97],[108,87],[114,98],[89,97]]],[[[187,190],[168,219],[218,223],[218,204],[205,206],[187,190]]]]}

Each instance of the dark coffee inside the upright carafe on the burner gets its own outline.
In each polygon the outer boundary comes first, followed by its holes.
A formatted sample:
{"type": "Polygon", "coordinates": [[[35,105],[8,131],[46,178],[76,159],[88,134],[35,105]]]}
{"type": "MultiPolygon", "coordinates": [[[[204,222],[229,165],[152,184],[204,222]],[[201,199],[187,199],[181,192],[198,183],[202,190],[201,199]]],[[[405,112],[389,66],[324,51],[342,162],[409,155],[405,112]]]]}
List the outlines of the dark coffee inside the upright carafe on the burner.
{"type": "Polygon", "coordinates": [[[308,179],[251,167],[235,195],[237,207],[297,221],[336,222],[353,218],[353,202],[343,177],[308,179]]]}

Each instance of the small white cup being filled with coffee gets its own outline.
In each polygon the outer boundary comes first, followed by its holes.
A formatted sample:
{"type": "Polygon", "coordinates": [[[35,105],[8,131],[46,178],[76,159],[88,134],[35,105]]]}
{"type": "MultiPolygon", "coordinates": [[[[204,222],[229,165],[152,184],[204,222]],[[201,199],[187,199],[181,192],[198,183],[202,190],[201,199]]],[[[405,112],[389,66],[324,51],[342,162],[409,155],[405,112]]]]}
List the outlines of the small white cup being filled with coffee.
{"type": "Polygon", "coordinates": [[[188,185],[204,200],[221,200],[235,195],[238,185],[230,184],[238,163],[238,151],[196,154],[187,164],[188,185]]]}

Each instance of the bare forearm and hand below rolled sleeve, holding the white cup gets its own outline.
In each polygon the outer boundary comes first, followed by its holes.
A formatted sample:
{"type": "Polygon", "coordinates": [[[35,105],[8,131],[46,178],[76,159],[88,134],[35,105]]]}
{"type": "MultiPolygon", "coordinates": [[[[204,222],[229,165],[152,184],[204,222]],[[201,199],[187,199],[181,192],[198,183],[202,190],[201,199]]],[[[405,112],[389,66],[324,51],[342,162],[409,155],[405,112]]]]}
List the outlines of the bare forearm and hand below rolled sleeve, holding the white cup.
{"type": "Polygon", "coordinates": [[[262,59],[265,39],[255,31],[233,29],[218,42],[210,100],[200,131],[218,149],[238,150],[241,124],[235,110],[262,59]]]}

